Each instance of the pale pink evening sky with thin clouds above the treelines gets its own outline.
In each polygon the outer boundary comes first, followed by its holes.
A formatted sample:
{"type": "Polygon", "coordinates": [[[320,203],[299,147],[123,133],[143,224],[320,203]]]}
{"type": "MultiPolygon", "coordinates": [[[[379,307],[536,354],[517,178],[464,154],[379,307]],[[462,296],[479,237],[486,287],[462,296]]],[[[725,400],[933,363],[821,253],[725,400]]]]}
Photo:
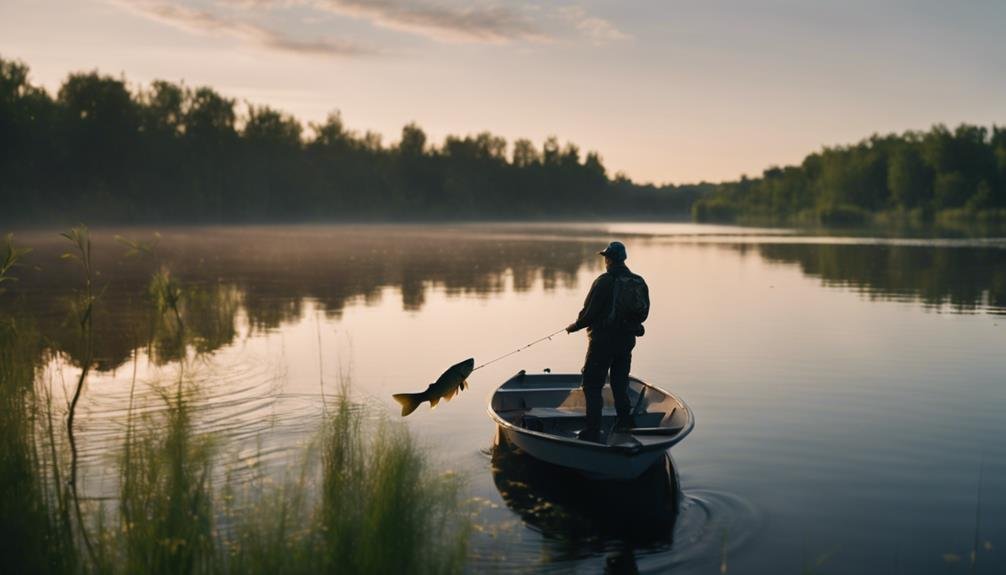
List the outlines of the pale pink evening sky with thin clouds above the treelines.
{"type": "Polygon", "coordinates": [[[823,145],[1006,123],[1006,3],[4,0],[0,55],[208,84],[387,143],[488,130],[640,181],[757,175],[823,145]],[[757,6],[756,6],[757,4],[757,6]]]}

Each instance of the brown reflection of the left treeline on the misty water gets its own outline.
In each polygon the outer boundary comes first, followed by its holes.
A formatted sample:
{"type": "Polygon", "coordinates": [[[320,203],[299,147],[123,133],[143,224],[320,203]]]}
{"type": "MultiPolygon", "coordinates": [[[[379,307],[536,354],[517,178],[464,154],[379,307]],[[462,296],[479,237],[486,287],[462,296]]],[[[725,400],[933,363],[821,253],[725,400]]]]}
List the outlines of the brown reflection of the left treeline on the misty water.
{"type": "MultiPolygon", "coordinates": [[[[574,285],[579,268],[597,263],[593,243],[412,226],[176,229],[164,234],[154,258],[127,256],[112,231],[93,235],[103,293],[94,310],[99,370],[125,363],[138,341],[151,342],[158,363],[180,359],[188,347],[211,352],[234,341],[240,316],[252,330],[271,330],[300,319],[308,301],[337,317],[348,304],[376,304],[391,289],[400,293],[404,310],[417,311],[431,290],[449,297],[538,284],[555,290],[574,285]],[[155,288],[151,277],[156,282],[167,269],[170,279],[162,281],[177,279],[183,291],[177,317],[150,306],[169,290],[155,288]],[[179,325],[186,330],[181,347],[174,333],[179,325]]],[[[30,263],[36,267],[21,270],[18,294],[2,305],[26,306],[50,335],[50,349],[79,365],[88,350],[60,304],[71,296],[71,270],[58,261],[60,246],[48,234],[28,234],[23,241],[35,249],[30,263]]]]}

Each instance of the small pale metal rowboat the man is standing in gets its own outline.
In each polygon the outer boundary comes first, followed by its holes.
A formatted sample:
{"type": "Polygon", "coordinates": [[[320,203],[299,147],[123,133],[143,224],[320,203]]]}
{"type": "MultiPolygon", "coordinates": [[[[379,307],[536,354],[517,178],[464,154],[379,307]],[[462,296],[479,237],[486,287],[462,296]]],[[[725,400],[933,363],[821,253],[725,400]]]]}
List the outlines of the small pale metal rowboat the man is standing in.
{"type": "Polygon", "coordinates": [[[552,464],[593,478],[632,480],[662,460],[684,439],[695,420],[680,398],[640,379],[629,378],[636,426],[615,431],[615,402],[605,386],[601,443],[576,438],[583,428],[585,400],[579,374],[529,374],[521,370],[493,393],[489,416],[500,440],[552,464]]]}

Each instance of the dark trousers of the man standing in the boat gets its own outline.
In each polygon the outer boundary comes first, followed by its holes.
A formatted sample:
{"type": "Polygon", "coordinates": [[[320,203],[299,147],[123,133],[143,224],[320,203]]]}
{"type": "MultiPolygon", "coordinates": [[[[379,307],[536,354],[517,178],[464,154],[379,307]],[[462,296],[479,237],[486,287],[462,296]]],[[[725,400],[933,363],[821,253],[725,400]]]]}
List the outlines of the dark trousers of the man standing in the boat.
{"type": "Polygon", "coordinates": [[[586,428],[584,433],[601,431],[601,411],[604,408],[601,390],[611,372],[612,396],[619,418],[629,421],[629,368],[636,336],[595,331],[586,348],[583,362],[583,396],[586,398],[586,428]]]}

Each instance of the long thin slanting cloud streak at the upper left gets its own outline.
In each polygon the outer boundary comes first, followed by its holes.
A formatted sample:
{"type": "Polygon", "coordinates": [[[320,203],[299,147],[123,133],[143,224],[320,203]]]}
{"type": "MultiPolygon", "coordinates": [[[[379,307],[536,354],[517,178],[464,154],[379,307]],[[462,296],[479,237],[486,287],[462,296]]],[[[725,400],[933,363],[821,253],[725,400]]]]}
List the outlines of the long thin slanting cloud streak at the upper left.
{"type": "Polygon", "coordinates": [[[323,56],[362,56],[376,53],[373,49],[352,42],[296,39],[257,24],[230,20],[210,12],[167,2],[116,0],[114,3],[146,18],[187,32],[222,34],[281,52],[323,56]]]}

